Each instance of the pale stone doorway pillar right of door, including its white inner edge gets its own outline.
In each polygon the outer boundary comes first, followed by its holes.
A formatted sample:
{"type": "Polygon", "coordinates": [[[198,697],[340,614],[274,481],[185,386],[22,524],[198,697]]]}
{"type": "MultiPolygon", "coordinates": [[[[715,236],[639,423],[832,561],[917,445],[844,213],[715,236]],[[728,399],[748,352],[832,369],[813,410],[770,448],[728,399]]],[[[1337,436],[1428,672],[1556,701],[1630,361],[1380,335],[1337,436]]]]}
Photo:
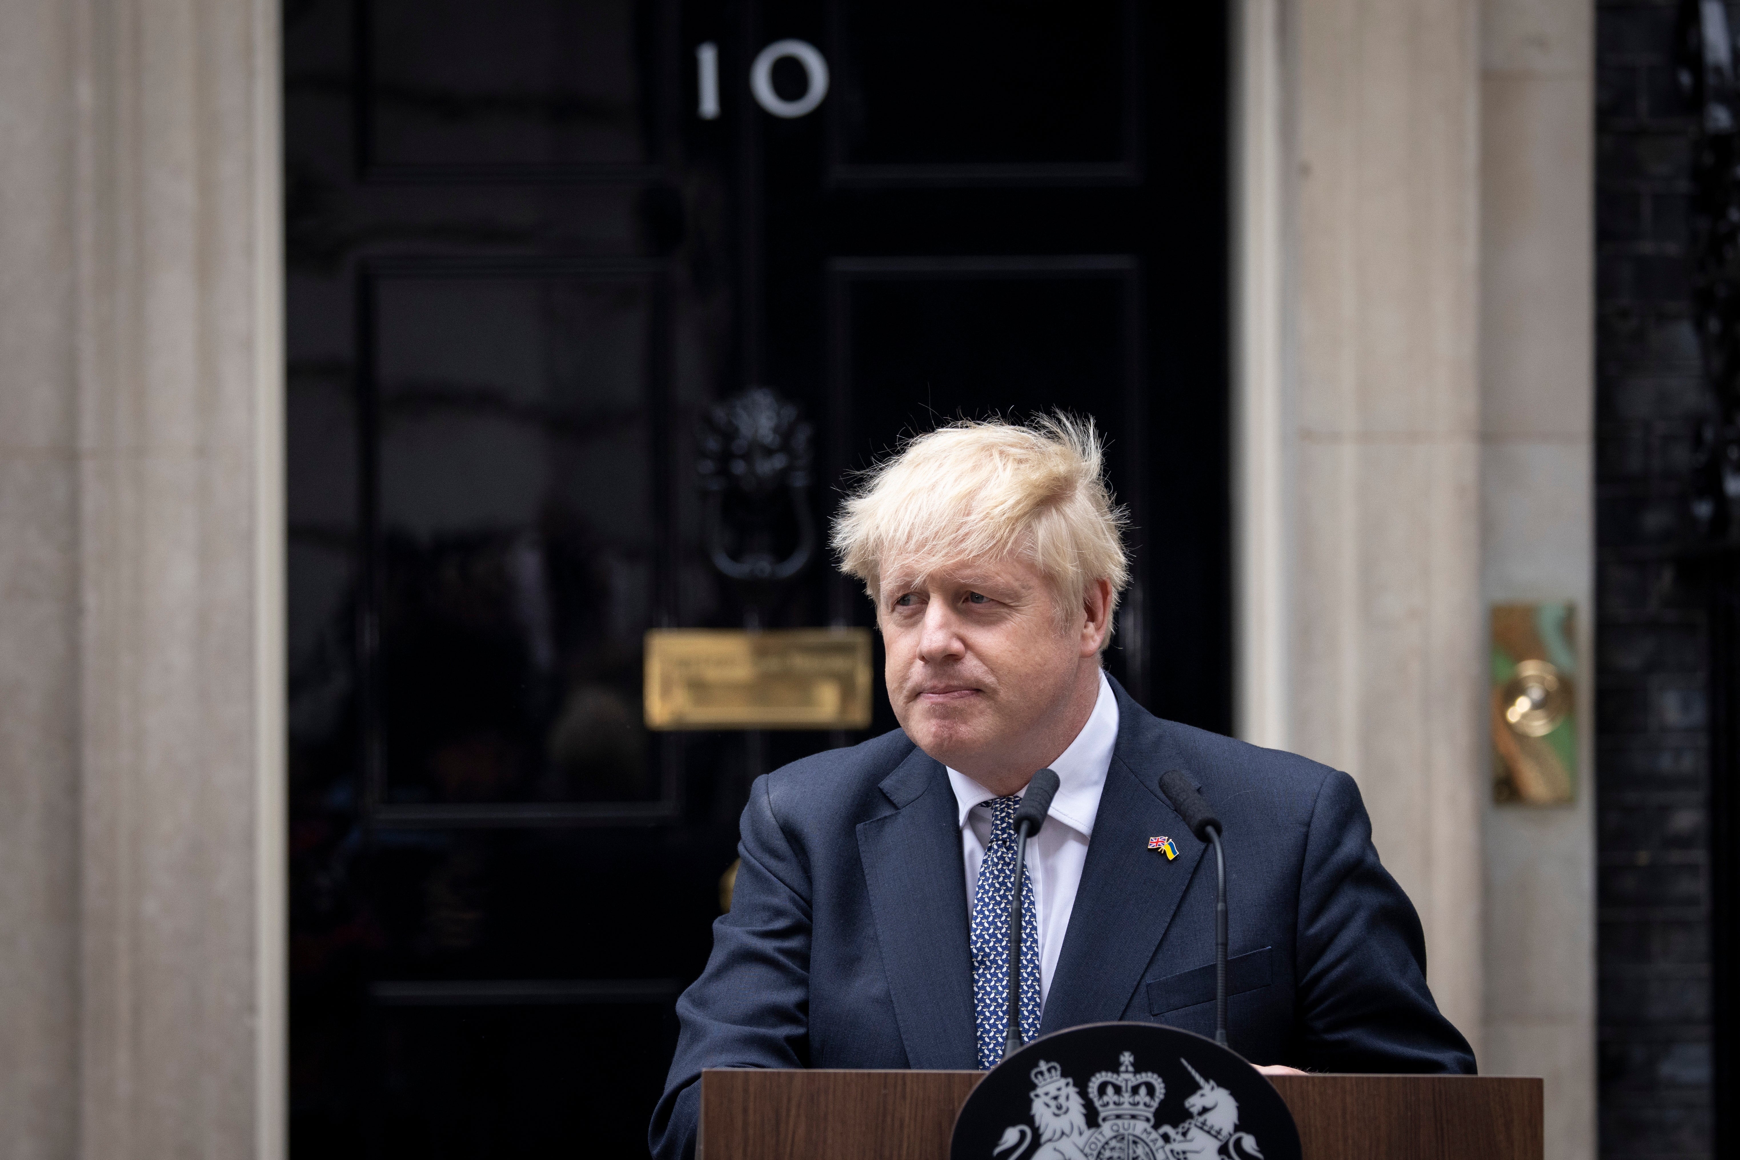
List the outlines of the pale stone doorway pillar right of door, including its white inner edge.
{"type": "Polygon", "coordinates": [[[1359,781],[1479,1050],[1477,7],[1241,12],[1241,729],[1359,781]]]}

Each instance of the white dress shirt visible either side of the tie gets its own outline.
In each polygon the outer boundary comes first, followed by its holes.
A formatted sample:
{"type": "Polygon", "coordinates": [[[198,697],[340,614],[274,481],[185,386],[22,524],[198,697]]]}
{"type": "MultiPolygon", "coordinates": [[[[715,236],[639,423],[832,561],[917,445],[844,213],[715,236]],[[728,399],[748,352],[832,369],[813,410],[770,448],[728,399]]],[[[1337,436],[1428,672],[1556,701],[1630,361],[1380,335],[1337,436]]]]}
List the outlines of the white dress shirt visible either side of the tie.
{"type": "MultiPolygon", "coordinates": [[[[1088,840],[1093,837],[1093,819],[1100,812],[1100,791],[1105,790],[1105,770],[1112,765],[1112,748],[1117,744],[1117,697],[1112,683],[1100,673],[1100,699],[1070,748],[1051,763],[1058,776],[1058,795],[1051,798],[1051,812],[1039,835],[1027,843],[1027,873],[1034,880],[1034,903],[1039,908],[1039,1002],[1051,993],[1051,974],[1058,969],[1063,934],[1070,929],[1070,911],[1075,910],[1075,890],[1082,882],[1082,863],[1088,861],[1088,840]]],[[[978,892],[978,868],[985,861],[985,843],[990,842],[990,802],[997,795],[957,769],[948,770],[948,784],[955,790],[960,807],[960,850],[967,863],[967,910],[978,892]]],[[[1025,793],[1025,790],[1023,790],[1025,793]]]]}

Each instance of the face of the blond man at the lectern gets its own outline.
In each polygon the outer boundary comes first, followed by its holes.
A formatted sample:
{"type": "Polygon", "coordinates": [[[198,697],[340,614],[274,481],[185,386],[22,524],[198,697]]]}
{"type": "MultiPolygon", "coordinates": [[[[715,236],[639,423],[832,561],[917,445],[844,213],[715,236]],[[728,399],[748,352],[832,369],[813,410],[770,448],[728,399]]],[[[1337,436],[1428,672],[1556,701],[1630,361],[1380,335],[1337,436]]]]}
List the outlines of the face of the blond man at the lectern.
{"type": "Polygon", "coordinates": [[[1025,770],[1025,784],[1081,729],[1084,666],[1098,692],[1103,616],[1094,626],[1077,609],[1060,631],[1056,597],[1025,560],[917,572],[894,558],[877,591],[894,717],[938,762],[981,784],[1025,770]]]}

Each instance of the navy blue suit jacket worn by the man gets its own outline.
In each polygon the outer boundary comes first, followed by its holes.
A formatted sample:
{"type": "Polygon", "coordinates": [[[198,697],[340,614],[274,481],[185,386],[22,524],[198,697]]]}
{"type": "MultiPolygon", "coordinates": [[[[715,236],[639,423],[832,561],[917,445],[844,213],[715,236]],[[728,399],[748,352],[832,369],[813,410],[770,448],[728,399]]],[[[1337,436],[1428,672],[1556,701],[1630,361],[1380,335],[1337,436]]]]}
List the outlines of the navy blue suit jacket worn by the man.
{"type": "MultiPolygon", "coordinates": [[[[1225,823],[1227,1038],[1317,1071],[1474,1071],[1425,984],[1425,939],[1352,777],[1166,722],[1121,723],[1041,1033],[1148,1019],[1215,1033],[1215,864],[1159,790],[1225,823]],[[1178,857],[1148,849],[1171,837],[1178,857]]],[[[755,781],[731,913],[677,1000],[652,1153],[694,1151],[701,1068],[978,1066],[966,870],[943,765],[900,730],[755,781]]]]}

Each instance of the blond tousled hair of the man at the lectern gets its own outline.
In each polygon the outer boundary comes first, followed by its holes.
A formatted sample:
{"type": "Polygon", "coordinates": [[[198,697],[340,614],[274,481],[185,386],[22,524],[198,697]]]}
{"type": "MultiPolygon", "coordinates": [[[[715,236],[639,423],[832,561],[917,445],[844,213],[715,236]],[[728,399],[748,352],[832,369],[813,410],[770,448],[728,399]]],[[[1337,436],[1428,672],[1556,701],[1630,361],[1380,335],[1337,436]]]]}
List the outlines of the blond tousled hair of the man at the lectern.
{"type": "Polygon", "coordinates": [[[1018,555],[1051,583],[1068,624],[1098,579],[1112,610],[1129,583],[1128,520],[1105,483],[1093,419],[1063,410],[1014,424],[962,419],[908,440],[865,471],[833,520],[840,570],[875,600],[882,562],[920,570],[1018,555]]]}

